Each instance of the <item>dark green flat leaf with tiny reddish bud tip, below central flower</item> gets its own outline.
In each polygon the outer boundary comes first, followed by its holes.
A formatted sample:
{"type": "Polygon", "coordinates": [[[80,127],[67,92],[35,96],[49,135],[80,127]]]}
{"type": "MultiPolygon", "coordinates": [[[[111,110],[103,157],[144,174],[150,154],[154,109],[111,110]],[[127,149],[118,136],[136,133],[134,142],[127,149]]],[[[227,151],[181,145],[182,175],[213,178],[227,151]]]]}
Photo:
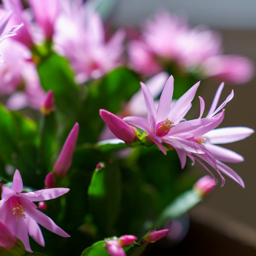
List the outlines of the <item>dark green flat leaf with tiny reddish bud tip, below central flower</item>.
{"type": "Polygon", "coordinates": [[[96,224],[109,236],[121,201],[120,172],[115,164],[95,169],[88,188],[88,198],[96,224]]]}

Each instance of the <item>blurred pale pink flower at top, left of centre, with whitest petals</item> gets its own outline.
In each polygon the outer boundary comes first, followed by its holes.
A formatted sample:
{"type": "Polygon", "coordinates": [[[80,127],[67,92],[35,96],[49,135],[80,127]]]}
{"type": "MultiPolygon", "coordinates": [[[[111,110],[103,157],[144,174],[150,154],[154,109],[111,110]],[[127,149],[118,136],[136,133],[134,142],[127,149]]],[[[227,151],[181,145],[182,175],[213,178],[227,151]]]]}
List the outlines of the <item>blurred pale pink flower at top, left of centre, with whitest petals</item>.
{"type": "MultiPolygon", "coordinates": [[[[81,1],[80,1],[81,2],[81,1]]],[[[104,24],[96,12],[74,1],[71,11],[62,11],[53,38],[55,50],[66,56],[76,73],[76,81],[83,83],[98,79],[122,63],[125,32],[118,30],[108,41],[104,24]]]]}

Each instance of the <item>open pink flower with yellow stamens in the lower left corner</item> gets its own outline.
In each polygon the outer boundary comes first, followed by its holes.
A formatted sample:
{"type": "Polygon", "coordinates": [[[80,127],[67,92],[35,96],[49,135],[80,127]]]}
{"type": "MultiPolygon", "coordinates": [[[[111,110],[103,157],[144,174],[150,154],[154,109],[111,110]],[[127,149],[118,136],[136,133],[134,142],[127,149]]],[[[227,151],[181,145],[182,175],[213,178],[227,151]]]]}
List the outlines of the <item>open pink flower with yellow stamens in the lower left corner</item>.
{"type": "Polygon", "coordinates": [[[23,242],[26,250],[31,251],[28,235],[38,244],[44,246],[44,237],[38,224],[59,236],[69,237],[51,218],[39,211],[36,205],[32,203],[57,198],[67,193],[69,189],[42,189],[21,193],[22,190],[23,183],[20,172],[16,170],[12,187],[3,186],[2,189],[0,220],[9,227],[14,236],[23,242]]]}

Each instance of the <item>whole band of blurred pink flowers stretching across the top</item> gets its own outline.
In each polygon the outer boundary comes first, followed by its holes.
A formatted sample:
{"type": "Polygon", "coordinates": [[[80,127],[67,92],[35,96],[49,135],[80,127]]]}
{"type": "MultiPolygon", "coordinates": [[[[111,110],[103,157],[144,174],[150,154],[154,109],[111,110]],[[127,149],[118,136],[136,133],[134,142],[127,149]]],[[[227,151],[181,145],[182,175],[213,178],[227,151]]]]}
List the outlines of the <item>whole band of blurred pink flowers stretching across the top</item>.
{"type": "MultiPolygon", "coordinates": [[[[32,54],[35,45],[52,41],[52,49],[70,61],[78,83],[126,65],[125,29],[108,36],[99,14],[89,4],[82,0],[28,3],[30,8],[23,9],[20,0],[3,0],[0,9],[3,13],[15,12],[9,24],[23,23],[13,40],[0,45],[1,59],[6,63],[0,66],[0,94],[11,95],[8,108],[40,108],[44,90],[32,54]]],[[[253,75],[253,64],[247,58],[221,55],[221,40],[215,32],[191,29],[186,20],[169,13],[148,20],[141,37],[128,42],[127,52],[128,66],[147,76],[173,63],[183,72],[233,83],[244,83],[253,75]]]]}

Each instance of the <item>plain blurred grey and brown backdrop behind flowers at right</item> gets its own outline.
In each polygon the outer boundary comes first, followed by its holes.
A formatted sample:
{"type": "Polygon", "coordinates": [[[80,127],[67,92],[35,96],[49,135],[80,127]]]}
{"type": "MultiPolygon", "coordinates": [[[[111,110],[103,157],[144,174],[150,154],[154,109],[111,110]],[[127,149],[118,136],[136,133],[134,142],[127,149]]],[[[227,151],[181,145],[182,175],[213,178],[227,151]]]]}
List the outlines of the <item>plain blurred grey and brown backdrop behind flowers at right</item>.
{"type": "MultiPolygon", "coordinates": [[[[241,54],[256,63],[256,1],[117,0],[113,20],[118,26],[125,23],[136,25],[158,10],[169,10],[171,13],[186,15],[192,26],[203,23],[217,30],[222,36],[225,54],[241,54]]],[[[255,77],[242,85],[225,84],[222,99],[224,100],[232,89],[235,96],[225,107],[225,118],[221,127],[247,126],[256,129],[255,77]]],[[[218,85],[217,81],[207,79],[201,82],[200,95],[206,102],[206,109],[209,109],[218,85]]],[[[244,156],[243,163],[230,164],[230,166],[243,178],[245,189],[227,178],[226,185],[222,188],[217,186],[198,207],[206,207],[212,212],[226,216],[227,220],[243,223],[249,229],[256,230],[255,145],[255,134],[243,141],[227,145],[228,148],[244,156]]],[[[193,169],[195,170],[195,167],[193,169]]],[[[198,172],[205,174],[205,170],[199,166],[198,172]]],[[[252,239],[254,240],[251,243],[256,246],[256,238],[252,239]]]]}

